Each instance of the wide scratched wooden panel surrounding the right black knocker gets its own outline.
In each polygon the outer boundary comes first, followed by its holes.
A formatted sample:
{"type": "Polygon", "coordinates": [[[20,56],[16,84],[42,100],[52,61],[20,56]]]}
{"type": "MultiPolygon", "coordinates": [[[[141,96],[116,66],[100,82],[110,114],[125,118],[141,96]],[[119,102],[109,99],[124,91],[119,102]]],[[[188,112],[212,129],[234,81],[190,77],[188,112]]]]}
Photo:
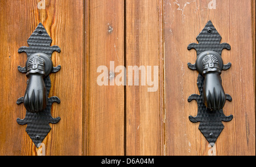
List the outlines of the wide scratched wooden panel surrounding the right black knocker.
{"type": "Polygon", "coordinates": [[[195,50],[187,50],[208,20],[212,20],[222,36],[221,42],[231,45],[223,50],[224,63],[232,67],[221,74],[226,93],[233,97],[226,102],[224,114],[233,114],[224,122],[224,130],[216,142],[217,155],[255,155],[255,101],[250,1],[164,1],[164,46],[166,67],[166,144],[167,155],[208,155],[207,140],[191,123],[189,115],[197,114],[197,105],[187,102],[192,93],[199,93],[198,73],[187,63],[196,61],[195,50]],[[212,4],[214,5],[214,4],[212,4]],[[246,31],[245,31],[246,29],[246,31]]]}

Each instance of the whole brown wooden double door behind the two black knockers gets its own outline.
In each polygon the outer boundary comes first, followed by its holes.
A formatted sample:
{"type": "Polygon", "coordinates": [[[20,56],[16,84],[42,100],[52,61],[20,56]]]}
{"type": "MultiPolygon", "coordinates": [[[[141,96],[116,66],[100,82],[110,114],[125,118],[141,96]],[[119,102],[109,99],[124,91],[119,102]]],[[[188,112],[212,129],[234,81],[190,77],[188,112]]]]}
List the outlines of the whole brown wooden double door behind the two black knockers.
{"type": "Polygon", "coordinates": [[[0,0],[0,155],[210,155],[199,123],[188,119],[196,102],[187,101],[198,93],[198,72],[187,67],[196,52],[187,46],[208,20],[230,44],[222,58],[232,63],[221,78],[233,97],[224,114],[234,118],[223,122],[214,155],[255,155],[254,0],[0,0]],[[52,54],[61,70],[50,74],[49,93],[61,100],[51,110],[61,120],[36,148],[16,122],[26,114],[16,100],[27,86],[17,70],[27,55],[18,49],[39,23],[61,49],[52,54]],[[151,84],[143,68],[156,71],[151,84]]]}

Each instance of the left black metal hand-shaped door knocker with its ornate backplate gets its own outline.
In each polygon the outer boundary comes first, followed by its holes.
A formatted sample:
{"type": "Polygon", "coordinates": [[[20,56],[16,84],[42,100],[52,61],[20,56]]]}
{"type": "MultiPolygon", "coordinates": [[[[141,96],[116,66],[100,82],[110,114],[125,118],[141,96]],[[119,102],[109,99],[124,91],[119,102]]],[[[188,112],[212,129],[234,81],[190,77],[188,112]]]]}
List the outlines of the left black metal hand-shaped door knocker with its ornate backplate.
{"type": "Polygon", "coordinates": [[[26,108],[24,119],[17,118],[19,125],[27,124],[26,132],[36,145],[40,146],[48,132],[51,131],[49,123],[57,123],[60,117],[52,118],[51,106],[53,102],[60,103],[56,96],[49,97],[51,79],[49,74],[60,70],[60,65],[53,67],[52,52],[60,52],[59,46],[50,46],[52,42],[42,23],[28,38],[29,47],[22,46],[18,53],[26,52],[27,62],[25,67],[18,66],[19,72],[26,73],[28,78],[27,88],[23,97],[17,104],[23,103],[26,108]]]}

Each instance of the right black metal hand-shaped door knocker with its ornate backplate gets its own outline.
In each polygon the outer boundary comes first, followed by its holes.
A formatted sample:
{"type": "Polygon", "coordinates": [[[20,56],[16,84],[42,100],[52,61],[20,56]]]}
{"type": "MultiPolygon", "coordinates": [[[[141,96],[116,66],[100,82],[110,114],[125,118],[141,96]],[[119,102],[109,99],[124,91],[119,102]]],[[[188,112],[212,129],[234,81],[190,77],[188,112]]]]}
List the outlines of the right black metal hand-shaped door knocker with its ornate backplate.
{"type": "Polygon", "coordinates": [[[230,45],[220,44],[221,36],[211,21],[205,25],[196,39],[198,44],[188,45],[188,50],[196,50],[196,63],[188,63],[188,67],[199,72],[197,87],[200,95],[193,94],[188,97],[189,102],[196,100],[198,106],[197,116],[190,115],[189,121],[200,122],[199,130],[209,143],[215,143],[224,129],[222,121],[228,122],[233,119],[233,115],[226,117],[223,113],[226,100],[232,101],[232,97],[225,94],[220,76],[222,70],[231,67],[231,63],[224,65],[221,58],[222,50],[230,50],[230,45]]]}

